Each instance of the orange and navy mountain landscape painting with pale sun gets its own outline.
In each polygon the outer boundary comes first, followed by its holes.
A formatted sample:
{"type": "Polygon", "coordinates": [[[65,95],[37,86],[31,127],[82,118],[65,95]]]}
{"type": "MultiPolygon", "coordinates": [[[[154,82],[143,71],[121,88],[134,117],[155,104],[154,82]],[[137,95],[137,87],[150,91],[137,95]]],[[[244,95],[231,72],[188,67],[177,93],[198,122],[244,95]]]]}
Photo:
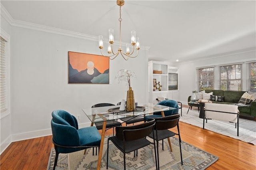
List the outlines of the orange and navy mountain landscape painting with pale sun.
{"type": "Polygon", "coordinates": [[[68,51],[68,84],[109,84],[109,58],[68,51]]]}

